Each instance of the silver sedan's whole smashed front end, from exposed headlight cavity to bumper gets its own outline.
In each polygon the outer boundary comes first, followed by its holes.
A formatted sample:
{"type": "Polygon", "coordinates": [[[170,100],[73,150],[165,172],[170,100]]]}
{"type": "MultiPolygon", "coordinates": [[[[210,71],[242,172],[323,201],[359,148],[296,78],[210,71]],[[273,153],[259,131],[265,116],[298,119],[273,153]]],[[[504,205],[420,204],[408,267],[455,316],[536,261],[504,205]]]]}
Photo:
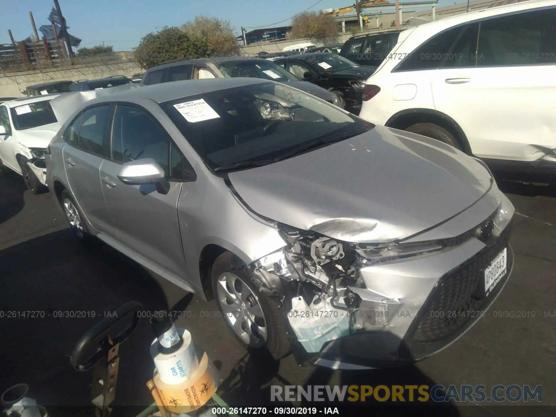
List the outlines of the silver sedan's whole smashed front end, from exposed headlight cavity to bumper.
{"type": "Polygon", "coordinates": [[[251,277],[282,301],[294,355],[302,347],[298,362],[349,357],[342,363],[375,367],[425,358],[463,335],[507,282],[513,208],[502,201],[458,236],[417,242],[347,242],[277,224],[287,244],[253,262],[251,277]],[[502,253],[507,269],[488,291],[484,271],[502,253]]]}

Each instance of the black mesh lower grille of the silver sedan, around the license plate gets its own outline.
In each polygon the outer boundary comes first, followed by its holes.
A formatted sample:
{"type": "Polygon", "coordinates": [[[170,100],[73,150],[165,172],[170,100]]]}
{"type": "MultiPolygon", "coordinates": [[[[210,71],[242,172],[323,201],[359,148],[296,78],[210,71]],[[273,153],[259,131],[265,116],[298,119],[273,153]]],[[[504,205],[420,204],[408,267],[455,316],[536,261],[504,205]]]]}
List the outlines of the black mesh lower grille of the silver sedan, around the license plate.
{"type": "MultiPolygon", "coordinates": [[[[484,294],[484,270],[504,247],[508,246],[510,225],[498,241],[486,247],[470,260],[443,276],[423,306],[423,314],[413,334],[415,343],[436,342],[453,335],[469,320],[480,316],[488,298],[484,294]]],[[[509,263],[509,262],[508,262],[509,263]]],[[[495,292],[508,279],[509,269],[495,292]]]]}

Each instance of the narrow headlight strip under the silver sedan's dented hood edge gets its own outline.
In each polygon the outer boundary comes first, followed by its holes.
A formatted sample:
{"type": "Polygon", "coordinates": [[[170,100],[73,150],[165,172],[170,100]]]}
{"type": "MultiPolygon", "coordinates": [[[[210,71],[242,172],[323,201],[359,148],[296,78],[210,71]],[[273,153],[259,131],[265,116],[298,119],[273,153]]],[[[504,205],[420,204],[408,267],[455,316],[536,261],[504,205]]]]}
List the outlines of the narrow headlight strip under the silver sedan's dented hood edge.
{"type": "Polygon", "coordinates": [[[402,257],[424,255],[443,249],[438,241],[416,242],[408,244],[396,244],[394,242],[385,244],[358,244],[355,251],[363,264],[374,264],[375,262],[398,259],[402,257]]]}

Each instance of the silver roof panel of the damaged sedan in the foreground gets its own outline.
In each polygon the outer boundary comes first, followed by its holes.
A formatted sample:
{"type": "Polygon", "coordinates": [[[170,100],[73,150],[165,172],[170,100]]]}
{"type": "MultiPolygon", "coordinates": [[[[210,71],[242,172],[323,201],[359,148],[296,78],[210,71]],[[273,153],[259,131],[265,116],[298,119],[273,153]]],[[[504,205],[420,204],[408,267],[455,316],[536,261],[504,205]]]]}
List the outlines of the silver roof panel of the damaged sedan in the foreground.
{"type": "Polygon", "coordinates": [[[110,100],[122,100],[126,101],[128,98],[133,97],[145,97],[150,98],[150,100],[157,103],[163,103],[165,101],[176,100],[176,98],[184,98],[190,96],[196,96],[198,94],[209,93],[212,91],[226,90],[227,88],[237,88],[252,84],[262,84],[272,82],[269,80],[263,80],[262,78],[210,78],[207,80],[183,80],[183,81],[172,81],[159,84],[153,84],[150,86],[138,86],[138,88],[131,88],[129,90],[116,90],[117,87],[107,88],[102,93],[102,96],[98,96],[100,100],[105,101],[102,98],[109,98],[110,100]],[[113,90],[113,91],[110,91],[113,90]]]}

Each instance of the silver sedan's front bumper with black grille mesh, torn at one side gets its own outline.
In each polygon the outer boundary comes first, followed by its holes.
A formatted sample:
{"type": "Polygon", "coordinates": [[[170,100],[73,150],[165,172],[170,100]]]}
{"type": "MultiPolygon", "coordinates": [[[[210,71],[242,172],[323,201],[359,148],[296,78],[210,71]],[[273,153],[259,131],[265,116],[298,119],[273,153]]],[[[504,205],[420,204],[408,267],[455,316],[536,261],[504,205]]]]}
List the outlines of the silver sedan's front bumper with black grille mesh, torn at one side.
{"type": "MultiPolygon", "coordinates": [[[[359,322],[355,332],[327,342],[314,355],[294,344],[297,361],[336,369],[403,365],[438,353],[465,334],[502,292],[513,269],[509,237],[514,209],[495,185],[490,194],[498,197],[498,209],[481,217],[484,220],[473,229],[442,239],[443,250],[361,268],[364,287],[349,287],[361,297],[352,318],[359,322]],[[481,241],[476,230],[489,220],[500,234],[481,241]],[[485,294],[485,268],[504,249],[506,271],[494,290],[485,294]]],[[[474,217],[471,213],[484,211],[479,208],[472,207],[453,221],[461,225],[465,217],[474,217]]],[[[440,228],[423,236],[431,234],[441,235],[440,228]]]]}

